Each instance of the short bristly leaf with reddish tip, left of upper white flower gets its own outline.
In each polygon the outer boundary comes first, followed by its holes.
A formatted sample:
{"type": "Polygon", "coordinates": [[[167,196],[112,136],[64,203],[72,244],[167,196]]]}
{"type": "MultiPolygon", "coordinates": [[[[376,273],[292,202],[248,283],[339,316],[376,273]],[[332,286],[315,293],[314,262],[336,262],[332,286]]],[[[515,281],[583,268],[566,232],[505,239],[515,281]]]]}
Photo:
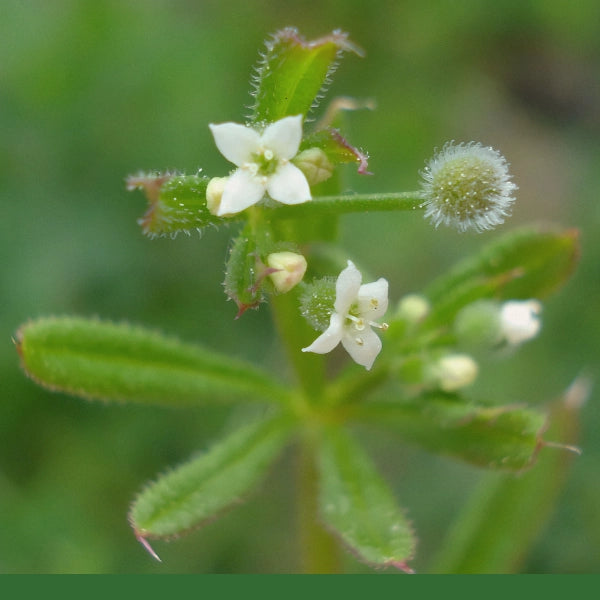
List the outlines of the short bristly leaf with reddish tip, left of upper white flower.
{"type": "Polygon", "coordinates": [[[131,175],[127,189],[141,189],[148,199],[148,210],[139,219],[142,231],[150,237],[201,231],[220,225],[223,219],[211,214],[206,205],[209,177],[200,175],[131,175]]]}

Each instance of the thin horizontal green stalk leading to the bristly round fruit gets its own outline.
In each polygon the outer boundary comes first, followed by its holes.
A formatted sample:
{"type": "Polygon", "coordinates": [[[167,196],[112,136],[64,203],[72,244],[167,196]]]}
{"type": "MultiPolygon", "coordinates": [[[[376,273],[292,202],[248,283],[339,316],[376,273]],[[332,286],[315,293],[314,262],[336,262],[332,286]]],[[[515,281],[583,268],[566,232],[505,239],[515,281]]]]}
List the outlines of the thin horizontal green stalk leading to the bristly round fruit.
{"type": "Polygon", "coordinates": [[[420,192],[400,192],[395,194],[346,194],[340,196],[316,196],[310,202],[294,206],[279,205],[272,209],[270,216],[275,218],[319,217],[329,214],[417,210],[423,208],[420,192]]]}

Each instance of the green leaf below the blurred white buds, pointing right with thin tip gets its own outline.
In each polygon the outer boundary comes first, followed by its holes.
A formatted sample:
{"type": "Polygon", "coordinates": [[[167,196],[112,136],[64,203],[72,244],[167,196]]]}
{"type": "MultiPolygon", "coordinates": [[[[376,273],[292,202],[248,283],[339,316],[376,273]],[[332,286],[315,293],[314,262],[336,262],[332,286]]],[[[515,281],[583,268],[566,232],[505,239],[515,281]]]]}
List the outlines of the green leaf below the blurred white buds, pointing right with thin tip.
{"type": "Polygon", "coordinates": [[[355,409],[361,422],[392,429],[426,450],[481,467],[519,471],[535,460],[546,417],[522,406],[478,406],[450,395],[369,402],[355,409]]]}

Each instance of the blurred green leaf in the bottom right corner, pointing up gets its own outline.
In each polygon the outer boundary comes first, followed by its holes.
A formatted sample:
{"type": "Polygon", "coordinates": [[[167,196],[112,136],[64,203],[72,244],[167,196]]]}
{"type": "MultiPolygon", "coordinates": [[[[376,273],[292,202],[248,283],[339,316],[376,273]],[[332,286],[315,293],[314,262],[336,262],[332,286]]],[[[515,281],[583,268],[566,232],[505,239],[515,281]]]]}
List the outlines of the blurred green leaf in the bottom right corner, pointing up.
{"type": "MultiPolygon", "coordinates": [[[[576,382],[564,401],[552,405],[549,439],[563,444],[575,441],[582,402],[581,384],[576,382]]],[[[573,452],[566,451],[568,449],[543,449],[535,467],[518,477],[498,473],[484,477],[429,570],[435,573],[518,572],[556,506],[574,457],[573,452]]]]}

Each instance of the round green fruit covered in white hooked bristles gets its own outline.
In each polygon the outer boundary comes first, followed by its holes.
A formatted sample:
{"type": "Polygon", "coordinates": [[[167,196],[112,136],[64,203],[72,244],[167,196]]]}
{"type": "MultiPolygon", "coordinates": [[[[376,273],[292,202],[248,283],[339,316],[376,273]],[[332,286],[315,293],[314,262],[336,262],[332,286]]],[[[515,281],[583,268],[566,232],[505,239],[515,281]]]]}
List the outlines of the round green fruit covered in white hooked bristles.
{"type": "Polygon", "coordinates": [[[421,175],[425,217],[436,227],[482,232],[510,215],[517,186],[506,159],[493,148],[449,142],[421,175]]]}

